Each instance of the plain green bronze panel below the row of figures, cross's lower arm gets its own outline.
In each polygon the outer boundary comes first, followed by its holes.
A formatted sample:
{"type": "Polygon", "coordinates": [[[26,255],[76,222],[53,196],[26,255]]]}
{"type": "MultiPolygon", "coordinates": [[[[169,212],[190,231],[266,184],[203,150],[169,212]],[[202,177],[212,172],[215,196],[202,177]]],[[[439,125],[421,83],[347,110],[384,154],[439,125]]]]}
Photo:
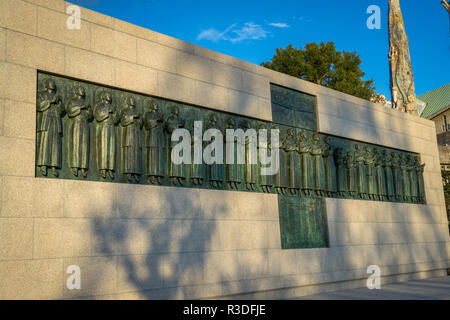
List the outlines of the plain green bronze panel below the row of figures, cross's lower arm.
{"type": "Polygon", "coordinates": [[[329,246],[325,200],[278,197],[282,249],[329,246]]]}

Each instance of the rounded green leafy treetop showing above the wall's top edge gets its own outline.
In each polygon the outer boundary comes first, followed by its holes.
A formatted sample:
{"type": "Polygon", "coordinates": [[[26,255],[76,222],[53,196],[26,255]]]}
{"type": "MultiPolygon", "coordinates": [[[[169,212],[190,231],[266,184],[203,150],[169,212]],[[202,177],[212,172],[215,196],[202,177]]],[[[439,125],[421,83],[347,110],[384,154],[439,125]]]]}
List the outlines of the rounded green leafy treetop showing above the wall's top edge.
{"type": "Polygon", "coordinates": [[[288,45],[276,49],[271,61],[261,66],[370,100],[373,79],[362,80],[361,59],[355,52],[337,51],[334,42],[307,43],[304,48],[288,45]]]}

